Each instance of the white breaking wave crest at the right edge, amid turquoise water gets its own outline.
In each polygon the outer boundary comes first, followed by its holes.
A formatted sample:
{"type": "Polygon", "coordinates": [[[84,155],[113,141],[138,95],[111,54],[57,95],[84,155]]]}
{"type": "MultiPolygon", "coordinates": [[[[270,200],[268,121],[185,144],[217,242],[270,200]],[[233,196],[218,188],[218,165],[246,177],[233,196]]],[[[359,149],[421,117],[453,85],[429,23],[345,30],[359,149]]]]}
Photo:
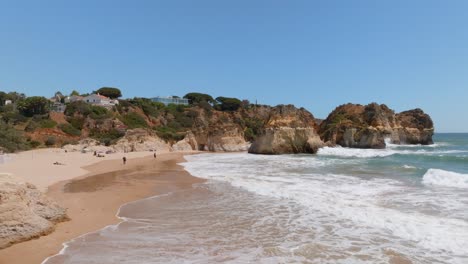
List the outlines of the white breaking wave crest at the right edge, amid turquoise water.
{"type": "Polygon", "coordinates": [[[423,183],[426,185],[468,188],[468,174],[429,169],[423,176],[423,183]]]}

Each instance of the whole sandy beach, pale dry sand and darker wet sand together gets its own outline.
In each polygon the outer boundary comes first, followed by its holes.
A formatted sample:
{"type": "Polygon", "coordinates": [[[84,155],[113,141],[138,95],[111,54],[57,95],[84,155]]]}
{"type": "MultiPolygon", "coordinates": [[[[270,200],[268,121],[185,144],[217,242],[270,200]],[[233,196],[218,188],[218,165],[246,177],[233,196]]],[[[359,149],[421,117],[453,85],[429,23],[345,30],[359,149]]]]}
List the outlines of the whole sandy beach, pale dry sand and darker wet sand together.
{"type": "Polygon", "coordinates": [[[0,250],[0,263],[41,263],[57,254],[62,244],[82,234],[119,223],[122,204],[170,191],[190,188],[202,180],[190,176],[177,163],[184,153],[112,154],[96,158],[92,153],[65,153],[59,149],[17,154],[0,166],[2,173],[21,175],[67,208],[70,221],[40,237],[0,250]],[[65,165],[54,165],[57,161],[65,165]],[[97,163],[96,163],[97,162],[97,163]]]}

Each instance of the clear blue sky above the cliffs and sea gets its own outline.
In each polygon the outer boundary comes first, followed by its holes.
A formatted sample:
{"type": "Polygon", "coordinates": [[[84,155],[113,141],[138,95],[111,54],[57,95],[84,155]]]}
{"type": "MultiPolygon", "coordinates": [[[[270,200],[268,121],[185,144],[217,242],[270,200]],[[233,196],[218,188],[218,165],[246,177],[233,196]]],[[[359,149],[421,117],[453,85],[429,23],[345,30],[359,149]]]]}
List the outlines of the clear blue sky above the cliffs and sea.
{"type": "Polygon", "coordinates": [[[468,132],[468,1],[0,0],[0,90],[420,107],[468,132]]]}

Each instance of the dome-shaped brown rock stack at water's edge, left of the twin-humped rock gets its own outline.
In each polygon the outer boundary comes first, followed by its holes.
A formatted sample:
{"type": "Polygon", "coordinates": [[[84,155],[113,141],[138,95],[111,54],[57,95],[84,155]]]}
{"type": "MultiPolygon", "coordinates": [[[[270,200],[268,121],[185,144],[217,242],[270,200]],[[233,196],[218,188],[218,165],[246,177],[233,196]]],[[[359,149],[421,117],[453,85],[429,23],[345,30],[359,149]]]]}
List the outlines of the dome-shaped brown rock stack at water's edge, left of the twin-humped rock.
{"type": "Polygon", "coordinates": [[[249,148],[255,154],[316,153],[322,147],[314,116],[293,105],[271,109],[260,135],[249,148]]]}

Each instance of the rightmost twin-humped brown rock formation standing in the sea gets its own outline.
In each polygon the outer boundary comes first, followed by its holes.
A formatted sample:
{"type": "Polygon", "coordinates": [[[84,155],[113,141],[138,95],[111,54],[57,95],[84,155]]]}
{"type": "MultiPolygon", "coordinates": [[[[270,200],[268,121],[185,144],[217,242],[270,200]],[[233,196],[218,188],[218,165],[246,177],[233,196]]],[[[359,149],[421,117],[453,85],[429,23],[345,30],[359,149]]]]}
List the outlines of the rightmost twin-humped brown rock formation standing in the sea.
{"type": "Polygon", "coordinates": [[[386,140],[392,144],[432,144],[434,126],[421,109],[395,114],[384,104],[345,104],[328,115],[319,133],[329,145],[385,148],[386,140]]]}

